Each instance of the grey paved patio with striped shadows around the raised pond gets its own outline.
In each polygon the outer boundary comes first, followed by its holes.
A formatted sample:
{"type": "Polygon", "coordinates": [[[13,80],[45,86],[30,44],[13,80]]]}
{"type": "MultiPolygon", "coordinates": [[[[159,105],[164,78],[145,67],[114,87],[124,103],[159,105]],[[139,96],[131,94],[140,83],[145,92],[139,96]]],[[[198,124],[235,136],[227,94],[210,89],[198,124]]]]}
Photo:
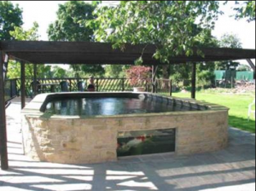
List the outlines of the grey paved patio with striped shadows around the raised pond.
{"type": "Polygon", "coordinates": [[[20,102],[7,110],[9,171],[0,190],[254,191],[255,135],[230,129],[230,144],[216,153],[158,155],[100,165],[35,162],[22,153],[20,102]]]}

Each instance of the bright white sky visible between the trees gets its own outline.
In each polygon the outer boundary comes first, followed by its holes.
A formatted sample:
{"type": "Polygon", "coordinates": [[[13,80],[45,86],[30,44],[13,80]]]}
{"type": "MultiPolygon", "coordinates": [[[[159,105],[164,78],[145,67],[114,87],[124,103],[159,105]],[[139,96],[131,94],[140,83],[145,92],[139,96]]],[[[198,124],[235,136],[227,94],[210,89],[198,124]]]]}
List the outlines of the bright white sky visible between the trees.
{"type": "MultiPolygon", "coordinates": [[[[34,21],[39,24],[40,40],[48,40],[47,29],[50,23],[56,20],[56,12],[58,5],[67,1],[11,1],[14,4],[19,4],[23,9],[23,27],[29,29],[34,21]]],[[[91,1],[85,1],[91,3],[91,1]]],[[[105,1],[105,4],[114,4],[116,1],[105,1]]],[[[227,6],[222,6],[221,9],[224,15],[219,16],[216,22],[213,36],[218,39],[225,33],[236,34],[241,39],[242,48],[255,49],[255,21],[248,23],[247,20],[235,20],[230,15],[234,14],[232,7],[234,3],[229,3],[227,6]]]]}

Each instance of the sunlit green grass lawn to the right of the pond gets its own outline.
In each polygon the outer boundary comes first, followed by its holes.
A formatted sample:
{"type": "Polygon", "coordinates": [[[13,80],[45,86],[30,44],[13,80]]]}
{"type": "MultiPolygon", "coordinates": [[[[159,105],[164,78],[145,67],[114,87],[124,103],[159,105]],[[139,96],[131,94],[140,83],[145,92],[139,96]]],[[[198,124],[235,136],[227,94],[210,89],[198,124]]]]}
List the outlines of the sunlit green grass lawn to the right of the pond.
{"type": "MultiPolygon", "coordinates": [[[[173,93],[177,97],[189,97],[189,93],[173,93]]],[[[230,108],[230,126],[255,133],[255,118],[247,121],[248,105],[253,102],[253,95],[225,95],[197,92],[196,99],[223,105],[230,108]]],[[[255,107],[253,107],[255,108],[255,107]]]]}

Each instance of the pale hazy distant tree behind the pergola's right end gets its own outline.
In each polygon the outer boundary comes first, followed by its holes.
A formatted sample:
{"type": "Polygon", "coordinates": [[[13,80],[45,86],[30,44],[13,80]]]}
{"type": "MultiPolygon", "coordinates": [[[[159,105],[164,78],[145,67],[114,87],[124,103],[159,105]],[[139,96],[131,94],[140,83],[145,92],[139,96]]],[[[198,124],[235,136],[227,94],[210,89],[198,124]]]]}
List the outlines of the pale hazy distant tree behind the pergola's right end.
{"type": "MultiPolygon", "coordinates": [[[[224,34],[218,43],[220,48],[241,49],[241,40],[235,34],[224,34]]],[[[218,61],[216,62],[217,70],[229,70],[230,67],[238,67],[236,61],[218,61]]]]}

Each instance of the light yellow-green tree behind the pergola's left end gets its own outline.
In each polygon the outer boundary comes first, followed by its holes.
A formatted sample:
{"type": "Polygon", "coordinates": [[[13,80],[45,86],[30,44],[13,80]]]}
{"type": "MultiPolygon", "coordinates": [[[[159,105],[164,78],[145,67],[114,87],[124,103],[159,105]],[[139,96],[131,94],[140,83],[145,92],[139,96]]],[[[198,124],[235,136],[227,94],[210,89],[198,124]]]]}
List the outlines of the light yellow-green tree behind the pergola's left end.
{"type": "MultiPolygon", "coordinates": [[[[15,26],[15,30],[10,32],[12,38],[16,40],[31,40],[37,41],[40,37],[38,35],[38,23],[34,22],[33,26],[29,30],[24,30],[21,27],[15,26]]],[[[50,66],[44,66],[43,64],[38,65],[38,78],[47,78],[50,77],[50,66]]],[[[20,78],[20,63],[16,61],[9,61],[9,78],[20,78]]],[[[26,65],[26,77],[32,78],[33,77],[33,65],[27,64],[26,65]]]]}

